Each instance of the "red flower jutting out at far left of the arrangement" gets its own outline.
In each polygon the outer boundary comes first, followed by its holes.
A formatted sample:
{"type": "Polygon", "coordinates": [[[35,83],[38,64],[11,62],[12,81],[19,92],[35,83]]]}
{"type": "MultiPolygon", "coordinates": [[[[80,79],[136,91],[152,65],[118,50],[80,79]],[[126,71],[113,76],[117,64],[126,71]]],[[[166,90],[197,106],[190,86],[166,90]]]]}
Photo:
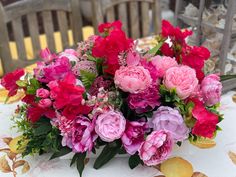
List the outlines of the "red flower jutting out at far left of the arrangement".
{"type": "Polygon", "coordinates": [[[6,74],[2,80],[1,85],[5,87],[9,93],[8,96],[14,96],[17,93],[19,86],[16,84],[16,81],[20,80],[21,76],[25,74],[23,69],[17,69],[11,73],[6,74]]]}

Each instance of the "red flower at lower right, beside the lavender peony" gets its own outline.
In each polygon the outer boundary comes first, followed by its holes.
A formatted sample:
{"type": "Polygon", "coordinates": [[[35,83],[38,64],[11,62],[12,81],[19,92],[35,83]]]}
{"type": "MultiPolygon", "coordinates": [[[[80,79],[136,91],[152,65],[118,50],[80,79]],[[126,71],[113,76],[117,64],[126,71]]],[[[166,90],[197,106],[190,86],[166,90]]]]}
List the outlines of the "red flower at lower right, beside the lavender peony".
{"type": "Polygon", "coordinates": [[[203,102],[198,99],[191,100],[194,103],[192,115],[197,122],[195,123],[192,134],[205,138],[212,138],[216,131],[216,125],[219,122],[218,116],[208,111],[203,102]]]}

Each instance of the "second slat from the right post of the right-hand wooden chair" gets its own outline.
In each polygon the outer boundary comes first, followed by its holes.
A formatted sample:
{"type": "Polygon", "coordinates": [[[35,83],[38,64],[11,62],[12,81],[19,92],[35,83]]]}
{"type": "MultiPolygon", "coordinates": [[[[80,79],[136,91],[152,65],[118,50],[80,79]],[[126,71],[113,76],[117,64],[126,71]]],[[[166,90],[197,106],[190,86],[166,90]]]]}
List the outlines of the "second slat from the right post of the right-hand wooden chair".
{"type": "Polygon", "coordinates": [[[129,3],[131,37],[140,37],[138,2],[129,3]]]}

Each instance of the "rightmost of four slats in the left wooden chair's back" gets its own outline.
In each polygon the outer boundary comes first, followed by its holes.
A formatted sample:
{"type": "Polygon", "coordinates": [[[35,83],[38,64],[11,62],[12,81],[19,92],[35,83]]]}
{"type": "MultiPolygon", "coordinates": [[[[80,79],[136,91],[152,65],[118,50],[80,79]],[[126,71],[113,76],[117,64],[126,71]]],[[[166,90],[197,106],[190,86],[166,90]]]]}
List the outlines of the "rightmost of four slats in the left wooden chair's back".
{"type": "Polygon", "coordinates": [[[57,19],[59,24],[59,30],[61,33],[61,41],[63,48],[69,46],[69,38],[68,38],[68,23],[66,18],[66,12],[57,11],[57,19]]]}

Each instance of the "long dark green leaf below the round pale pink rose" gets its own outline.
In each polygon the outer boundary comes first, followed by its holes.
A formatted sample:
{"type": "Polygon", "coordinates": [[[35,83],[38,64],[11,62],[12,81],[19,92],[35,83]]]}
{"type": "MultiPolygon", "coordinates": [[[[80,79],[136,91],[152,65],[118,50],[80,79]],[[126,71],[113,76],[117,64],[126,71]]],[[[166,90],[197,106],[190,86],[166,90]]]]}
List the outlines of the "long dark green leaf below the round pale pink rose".
{"type": "Polygon", "coordinates": [[[96,159],[93,168],[95,169],[101,168],[103,165],[109,162],[113,157],[115,157],[115,155],[119,152],[120,148],[121,148],[121,142],[119,141],[107,144],[103,148],[101,154],[96,159]]]}

